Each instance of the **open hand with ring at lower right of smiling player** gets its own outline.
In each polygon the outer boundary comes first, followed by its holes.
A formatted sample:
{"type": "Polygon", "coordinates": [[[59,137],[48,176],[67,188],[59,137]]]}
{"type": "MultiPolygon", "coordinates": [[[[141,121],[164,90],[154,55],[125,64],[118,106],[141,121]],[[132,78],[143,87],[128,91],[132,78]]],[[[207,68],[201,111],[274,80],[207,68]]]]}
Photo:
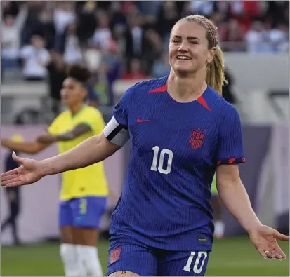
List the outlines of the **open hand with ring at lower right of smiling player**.
{"type": "Polygon", "coordinates": [[[249,232],[249,238],[265,259],[286,259],[286,255],[279,247],[276,238],[280,241],[289,241],[289,236],[285,236],[266,225],[261,225],[249,232]]]}

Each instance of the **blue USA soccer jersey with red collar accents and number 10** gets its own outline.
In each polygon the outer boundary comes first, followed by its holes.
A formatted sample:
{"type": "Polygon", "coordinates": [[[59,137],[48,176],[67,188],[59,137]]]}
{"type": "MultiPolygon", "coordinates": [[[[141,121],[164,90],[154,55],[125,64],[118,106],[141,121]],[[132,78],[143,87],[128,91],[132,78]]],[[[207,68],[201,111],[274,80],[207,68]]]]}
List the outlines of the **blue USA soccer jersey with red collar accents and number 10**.
{"type": "Polygon", "coordinates": [[[153,248],[211,250],[211,182],[216,166],[243,163],[239,115],[208,87],[180,103],[154,79],[129,88],[104,130],[107,140],[131,154],[110,234],[153,248]]]}

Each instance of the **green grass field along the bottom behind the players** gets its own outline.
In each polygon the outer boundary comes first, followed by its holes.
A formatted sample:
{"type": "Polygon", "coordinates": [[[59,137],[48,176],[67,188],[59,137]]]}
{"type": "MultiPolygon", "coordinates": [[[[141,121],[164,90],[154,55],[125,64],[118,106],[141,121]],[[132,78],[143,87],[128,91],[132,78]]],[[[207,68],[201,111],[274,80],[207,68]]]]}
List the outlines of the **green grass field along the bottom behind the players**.
{"type": "MultiPolygon", "coordinates": [[[[99,244],[106,272],[107,241],[99,244]]],[[[281,243],[289,255],[289,243],[281,243]]],[[[63,276],[58,243],[1,247],[1,276],[63,276]]],[[[289,257],[263,259],[246,237],[213,243],[207,276],[289,276],[289,257]]]]}

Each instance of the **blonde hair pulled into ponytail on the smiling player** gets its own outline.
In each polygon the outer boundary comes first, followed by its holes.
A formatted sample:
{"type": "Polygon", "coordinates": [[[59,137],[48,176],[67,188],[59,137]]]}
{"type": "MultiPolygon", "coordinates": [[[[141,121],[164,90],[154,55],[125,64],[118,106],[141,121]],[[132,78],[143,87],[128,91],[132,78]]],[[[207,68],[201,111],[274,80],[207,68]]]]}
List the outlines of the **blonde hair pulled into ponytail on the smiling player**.
{"type": "MultiPolygon", "coordinates": [[[[206,29],[206,39],[209,41],[209,49],[216,47],[216,53],[212,62],[207,65],[206,83],[220,95],[223,93],[223,84],[227,84],[225,79],[225,65],[223,60],[223,50],[218,46],[218,27],[211,20],[203,15],[188,15],[178,22],[195,22],[206,29]]],[[[178,23],[176,22],[176,24],[178,23]]]]}

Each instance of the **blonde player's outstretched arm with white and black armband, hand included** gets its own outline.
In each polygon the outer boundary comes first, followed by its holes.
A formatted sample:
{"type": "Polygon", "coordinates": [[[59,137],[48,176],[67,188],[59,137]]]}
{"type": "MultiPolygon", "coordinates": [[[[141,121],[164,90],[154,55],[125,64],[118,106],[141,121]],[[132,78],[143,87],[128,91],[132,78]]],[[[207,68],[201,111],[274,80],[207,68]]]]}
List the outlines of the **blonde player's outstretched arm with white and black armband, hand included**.
{"type": "Polygon", "coordinates": [[[67,170],[84,168],[105,160],[114,154],[128,140],[126,126],[121,126],[113,118],[103,133],[85,140],[63,154],[42,161],[20,158],[13,153],[13,159],[19,168],[1,174],[1,186],[15,187],[33,184],[46,175],[62,173],[67,170]]]}

